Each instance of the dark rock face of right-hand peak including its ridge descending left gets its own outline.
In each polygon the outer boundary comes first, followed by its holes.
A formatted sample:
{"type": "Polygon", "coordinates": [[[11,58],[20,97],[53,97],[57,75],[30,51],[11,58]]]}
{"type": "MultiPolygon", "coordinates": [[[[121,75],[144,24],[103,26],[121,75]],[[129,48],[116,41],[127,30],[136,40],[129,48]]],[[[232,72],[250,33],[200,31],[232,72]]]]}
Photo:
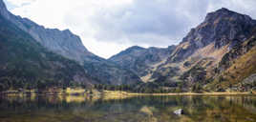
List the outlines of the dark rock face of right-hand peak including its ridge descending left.
{"type": "Polygon", "coordinates": [[[168,60],[179,62],[211,43],[214,43],[215,49],[227,44],[232,48],[251,35],[255,24],[249,16],[231,10],[221,9],[208,13],[203,23],[183,38],[168,60]]]}

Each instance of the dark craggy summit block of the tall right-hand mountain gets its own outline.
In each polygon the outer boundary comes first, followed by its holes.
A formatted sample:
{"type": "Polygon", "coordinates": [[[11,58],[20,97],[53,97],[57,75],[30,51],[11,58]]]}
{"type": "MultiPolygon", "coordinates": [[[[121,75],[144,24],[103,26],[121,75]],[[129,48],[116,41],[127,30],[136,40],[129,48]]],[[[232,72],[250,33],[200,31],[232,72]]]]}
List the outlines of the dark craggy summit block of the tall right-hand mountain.
{"type": "Polygon", "coordinates": [[[255,25],[248,15],[223,8],[208,13],[203,23],[192,29],[182,42],[195,43],[197,48],[214,42],[215,48],[221,48],[233,40],[244,41],[255,25]]]}

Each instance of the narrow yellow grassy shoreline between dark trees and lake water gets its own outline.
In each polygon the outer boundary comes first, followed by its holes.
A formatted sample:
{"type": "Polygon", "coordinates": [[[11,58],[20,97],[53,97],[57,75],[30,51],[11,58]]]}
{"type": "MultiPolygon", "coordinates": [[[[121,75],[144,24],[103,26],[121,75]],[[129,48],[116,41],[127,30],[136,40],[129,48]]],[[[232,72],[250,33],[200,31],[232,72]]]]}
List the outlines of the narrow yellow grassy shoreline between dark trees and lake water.
{"type": "Polygon", "coordinates": [[[144,97],[232,97],[232,96],[256,96],[255,92],[180,92],[180,93],[135,93],[126,91],[102,91],[100,93],[80,93],[80,94],[69,94],[69,93],[0,93],[1,98],[29,98],[34,100],[36,98],[49,98],[49,100],[64,100],[68,103],[71,102],[84,102],[84,101],[108,101],[108,100],[123,100],[129,98],[144,98],[144,97]]]}

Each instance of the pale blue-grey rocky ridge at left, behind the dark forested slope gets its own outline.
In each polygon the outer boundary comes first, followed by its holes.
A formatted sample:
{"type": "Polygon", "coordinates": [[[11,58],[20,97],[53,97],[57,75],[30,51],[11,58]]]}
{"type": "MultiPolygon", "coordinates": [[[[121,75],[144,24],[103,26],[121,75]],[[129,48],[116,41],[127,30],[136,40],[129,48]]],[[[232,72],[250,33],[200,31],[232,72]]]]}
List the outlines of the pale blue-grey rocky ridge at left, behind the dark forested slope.
{"type": "Polygon", "coordinates": [[[120,85],[140,82],[139,76],[134,72],[122,69],[88,51],[81,39],[70,30],[45,29],[27,18],[15,16],[6,9],[3,0],[0,0],[0,10],[0,14],[5,19],[20,30],[28,32],[35,41],[49,51],[79,62],[84,66],[85,71],[101,81],[100,83],[120,85]]]}

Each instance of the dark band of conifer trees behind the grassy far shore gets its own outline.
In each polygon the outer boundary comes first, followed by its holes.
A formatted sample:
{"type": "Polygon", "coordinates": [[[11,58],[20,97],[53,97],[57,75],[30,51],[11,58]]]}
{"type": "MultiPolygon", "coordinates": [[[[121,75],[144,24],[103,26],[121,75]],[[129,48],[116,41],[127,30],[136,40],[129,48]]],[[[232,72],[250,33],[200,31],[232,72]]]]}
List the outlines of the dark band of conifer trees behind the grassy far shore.
{"type": "Polygon", "coordinates": [[[128,91],[128,92],[139,92],[139,93],[170,93],[170,92],[186,92],[194,91],[201,92],[203,87],[201,84],[197,83],[188,90],[187,85],[184,82],[150,82],[150,83],[140,83],[136,85],[104,85],[96,84],[94,86],[88,86],[82,82],[74,81],[55,81],[55,80],[34,80],[33,82],[22,78],[15,77],[2,77],[0,78],[0,91],[9,90],[36,90],[38,92],[45,91],[51,88],[63,89],[67,88],[82,88],[82,89],[96,89],[97,91],[128,91]]]}

